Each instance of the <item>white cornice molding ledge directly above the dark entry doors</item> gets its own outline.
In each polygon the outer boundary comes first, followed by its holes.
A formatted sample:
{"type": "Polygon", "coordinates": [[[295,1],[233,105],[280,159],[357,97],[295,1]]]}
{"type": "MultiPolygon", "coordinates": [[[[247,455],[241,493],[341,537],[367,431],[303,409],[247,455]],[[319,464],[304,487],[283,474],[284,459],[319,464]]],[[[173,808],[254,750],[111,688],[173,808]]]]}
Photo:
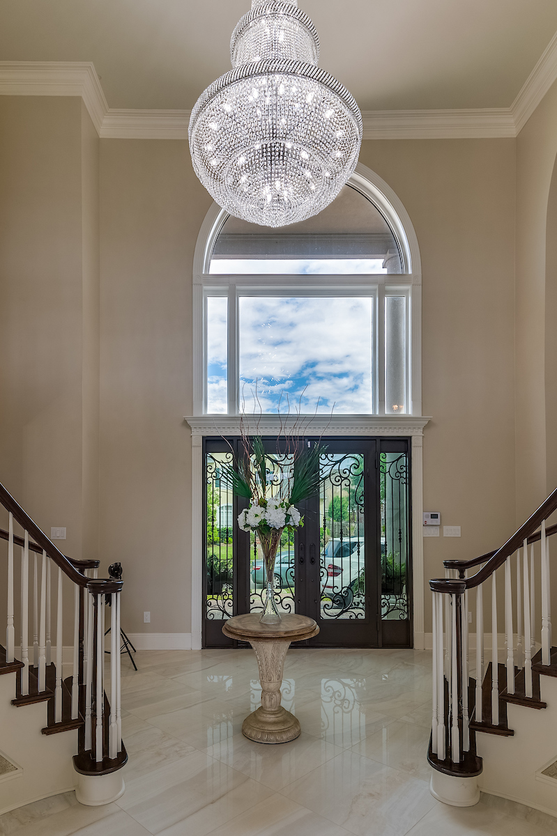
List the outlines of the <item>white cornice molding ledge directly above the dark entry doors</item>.
{"type": "Polygon", "coordinates": [[[416,415],[188,415],[192,436],[276,436],[281,427],[310,436],[422,436],[430,417],[416,415]]]}

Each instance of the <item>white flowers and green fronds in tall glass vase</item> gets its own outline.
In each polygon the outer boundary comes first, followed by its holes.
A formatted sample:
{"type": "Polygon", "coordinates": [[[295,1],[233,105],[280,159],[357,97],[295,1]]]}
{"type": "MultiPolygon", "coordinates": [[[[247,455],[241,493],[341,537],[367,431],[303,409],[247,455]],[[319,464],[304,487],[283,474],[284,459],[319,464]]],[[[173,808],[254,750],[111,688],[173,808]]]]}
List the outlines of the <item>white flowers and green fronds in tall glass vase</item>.
{"type": "Polygon", "coordinates": [[[274,562],[280,538],[287,528],[294,531],[304,525],[296,507],[314,496],[319,488],[319,443],[306,446],[298,436],[284,436],[285,443],[276,453],[265,451],[261,436],[243,434],[243,455],[234,466],[223,468],[222,479],[238,497],[249,501],[238,516],[242,531],[257,533],[265,563],[267,598],[261,620],[280,621],[274,601],[274,562]]]}

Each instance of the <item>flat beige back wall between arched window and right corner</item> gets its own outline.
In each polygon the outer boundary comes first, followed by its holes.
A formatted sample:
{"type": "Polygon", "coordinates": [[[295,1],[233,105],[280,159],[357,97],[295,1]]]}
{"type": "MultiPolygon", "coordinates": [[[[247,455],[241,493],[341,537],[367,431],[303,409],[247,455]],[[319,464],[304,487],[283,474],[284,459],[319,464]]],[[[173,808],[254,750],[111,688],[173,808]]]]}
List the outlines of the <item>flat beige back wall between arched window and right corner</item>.
{"type": "Polygon", "coordinates": [[[423,273],[424,509],[461,538],[425,538],[442,561],[497,548],[514,526],[514,140],[365,142],[396,191],[423,273]]]}

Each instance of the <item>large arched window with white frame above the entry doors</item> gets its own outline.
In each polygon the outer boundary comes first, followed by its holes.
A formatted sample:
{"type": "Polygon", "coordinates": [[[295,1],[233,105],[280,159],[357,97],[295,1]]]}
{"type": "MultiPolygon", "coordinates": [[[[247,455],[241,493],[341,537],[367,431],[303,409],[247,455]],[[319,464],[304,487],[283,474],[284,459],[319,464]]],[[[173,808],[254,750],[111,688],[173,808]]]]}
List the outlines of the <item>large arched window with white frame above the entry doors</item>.
{"type": "Polygon", "coordinates": [[[289,227],[213,206],[194,273],[197,415],[421,415],[416,237],[365,166],[289,227]]]}

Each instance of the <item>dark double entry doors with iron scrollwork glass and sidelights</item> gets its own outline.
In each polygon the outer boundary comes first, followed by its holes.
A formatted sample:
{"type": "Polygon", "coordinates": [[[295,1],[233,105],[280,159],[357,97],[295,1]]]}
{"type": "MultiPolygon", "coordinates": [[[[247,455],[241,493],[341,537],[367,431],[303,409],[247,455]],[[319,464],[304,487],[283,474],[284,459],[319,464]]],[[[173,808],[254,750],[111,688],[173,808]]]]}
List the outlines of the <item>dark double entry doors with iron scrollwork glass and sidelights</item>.
{"type": "MultiPolygon", "coordinates": [[[[204,442],[203,646],[232,646],[225,619],[260,613],[266,595],[256,533],[238,528],[245,500],[222,466],[239,437],[204,442]]],[[[311,446],[317,439],[304,439],[311,446]]],[[[268,483],[288,467],[280,441],[264,439],[268,483]]],[[[411,646],[411,509],[408,439],[323,438],[319,494],[299,505],[304,526],[284,531],[274,568],[281,614],[309,615],[321,647],[411,646]]]]}

